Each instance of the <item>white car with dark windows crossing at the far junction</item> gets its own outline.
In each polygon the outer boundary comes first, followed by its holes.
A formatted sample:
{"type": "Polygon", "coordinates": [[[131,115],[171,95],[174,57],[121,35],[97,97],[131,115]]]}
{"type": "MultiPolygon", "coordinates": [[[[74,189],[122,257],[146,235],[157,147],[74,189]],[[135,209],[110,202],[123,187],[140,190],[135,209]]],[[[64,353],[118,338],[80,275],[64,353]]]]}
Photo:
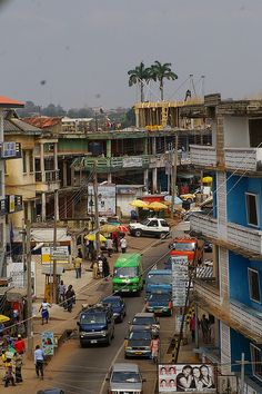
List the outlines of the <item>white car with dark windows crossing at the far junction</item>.
{"type": "Polygon", "coordinates": [[[157,217],[144,219],[141,223],[130,223],[129,230],[135,237],[148,235],[164,238],[170,234],[169,224],[164,219],[157,217]]]}

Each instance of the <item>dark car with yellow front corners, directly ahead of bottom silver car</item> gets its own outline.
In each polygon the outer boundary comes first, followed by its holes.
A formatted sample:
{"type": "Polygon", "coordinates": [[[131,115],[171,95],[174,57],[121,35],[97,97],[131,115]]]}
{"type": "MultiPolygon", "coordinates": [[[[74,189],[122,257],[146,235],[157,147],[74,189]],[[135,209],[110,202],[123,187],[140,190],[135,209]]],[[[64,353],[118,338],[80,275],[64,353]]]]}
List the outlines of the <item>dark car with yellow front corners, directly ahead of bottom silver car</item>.
{"type": "Polygon", "coordinates": [[[124,342],[124,357],[151,357],[152,331],[150,327],[133,325],[124,342]]]}

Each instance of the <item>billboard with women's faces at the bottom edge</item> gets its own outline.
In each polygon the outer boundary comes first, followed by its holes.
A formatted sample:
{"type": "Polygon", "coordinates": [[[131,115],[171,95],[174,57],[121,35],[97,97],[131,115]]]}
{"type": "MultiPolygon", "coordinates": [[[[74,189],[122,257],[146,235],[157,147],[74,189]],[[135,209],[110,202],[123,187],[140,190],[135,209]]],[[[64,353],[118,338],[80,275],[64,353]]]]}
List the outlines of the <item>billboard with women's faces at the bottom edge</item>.
{"type": "Polygon", "coordinates": [[[159,393],[215,393],[214,371],[206,364],[159,364],[159,393]]]}

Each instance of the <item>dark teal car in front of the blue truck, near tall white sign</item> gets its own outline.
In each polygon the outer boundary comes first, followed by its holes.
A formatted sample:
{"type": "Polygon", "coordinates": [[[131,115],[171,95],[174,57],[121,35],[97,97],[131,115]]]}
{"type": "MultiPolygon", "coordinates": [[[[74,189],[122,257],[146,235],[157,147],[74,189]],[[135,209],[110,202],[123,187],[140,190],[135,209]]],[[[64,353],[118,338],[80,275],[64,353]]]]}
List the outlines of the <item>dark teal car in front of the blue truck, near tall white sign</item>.
{"type": "Polygon", "coordinates": [[[172,316],[172,297],[170,293],[151,293],[145,303],[145,311],[158,315],[172,316]]]}

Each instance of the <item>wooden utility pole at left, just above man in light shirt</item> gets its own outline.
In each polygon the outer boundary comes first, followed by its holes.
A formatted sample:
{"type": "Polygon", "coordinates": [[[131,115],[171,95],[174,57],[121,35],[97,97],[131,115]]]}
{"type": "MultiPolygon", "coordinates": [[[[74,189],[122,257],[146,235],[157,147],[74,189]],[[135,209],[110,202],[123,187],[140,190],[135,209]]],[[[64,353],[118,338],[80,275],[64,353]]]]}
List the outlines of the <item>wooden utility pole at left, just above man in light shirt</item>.
{"type": "Polygon", "coordinates": [[[31,223],[26,223],[26,250],[27,250],[27,335],[28,356],[31,358],[33,349],[33,323],[32,323],[32,268],[31,268],[31,223]]]}

